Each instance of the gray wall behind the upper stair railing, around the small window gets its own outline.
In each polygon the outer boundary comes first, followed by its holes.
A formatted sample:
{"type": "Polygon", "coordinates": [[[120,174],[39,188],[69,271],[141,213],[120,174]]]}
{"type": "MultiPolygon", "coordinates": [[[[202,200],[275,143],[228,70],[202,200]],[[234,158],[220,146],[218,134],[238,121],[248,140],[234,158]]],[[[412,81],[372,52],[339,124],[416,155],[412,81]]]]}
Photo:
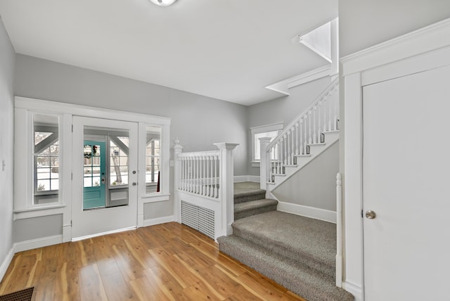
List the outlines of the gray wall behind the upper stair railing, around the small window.
{"type": "Polygon", "coordinates": [[[250,166],[250,160],[252,158],[250,127],[258,127],[277,122],[283,122],[284,127],[287,126],[289,122],[311,105],[314,99],[329,84],[330,78],[324,77],[290,89],[290,96],[283,96],[273,101],[266,101],[248,107],[248,174],[259,176],[259,167],[250,166]]]}

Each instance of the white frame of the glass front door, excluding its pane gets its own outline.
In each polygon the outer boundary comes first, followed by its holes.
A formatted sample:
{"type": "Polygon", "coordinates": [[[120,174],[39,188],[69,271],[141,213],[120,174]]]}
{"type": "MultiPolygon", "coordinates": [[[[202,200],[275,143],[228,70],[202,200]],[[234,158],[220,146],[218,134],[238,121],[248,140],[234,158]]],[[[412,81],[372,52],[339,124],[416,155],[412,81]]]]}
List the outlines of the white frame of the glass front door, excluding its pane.
{"type": "Polygon", "coordinates": [[[72,241],[133,229],[138,212],[138,123],[73,116],[72,133],[72,241]],[[128,205],[83,210],[84,126],[129,130],[128,205]],[[133,185],[134,184],[134,185],[133,185]]]}

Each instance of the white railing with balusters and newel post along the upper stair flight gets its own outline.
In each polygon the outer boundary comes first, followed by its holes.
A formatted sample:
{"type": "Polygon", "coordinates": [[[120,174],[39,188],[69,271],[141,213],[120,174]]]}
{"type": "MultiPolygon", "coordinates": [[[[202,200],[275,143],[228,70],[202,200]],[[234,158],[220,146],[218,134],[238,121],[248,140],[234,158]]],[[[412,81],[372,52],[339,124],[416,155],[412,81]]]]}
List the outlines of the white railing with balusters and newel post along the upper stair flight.
{"type": "Polygon", "coordinates": [[[335,79],[272,141],[261,139],[261,188],[269,193],[339,140],[339,81],[335,79]]]}

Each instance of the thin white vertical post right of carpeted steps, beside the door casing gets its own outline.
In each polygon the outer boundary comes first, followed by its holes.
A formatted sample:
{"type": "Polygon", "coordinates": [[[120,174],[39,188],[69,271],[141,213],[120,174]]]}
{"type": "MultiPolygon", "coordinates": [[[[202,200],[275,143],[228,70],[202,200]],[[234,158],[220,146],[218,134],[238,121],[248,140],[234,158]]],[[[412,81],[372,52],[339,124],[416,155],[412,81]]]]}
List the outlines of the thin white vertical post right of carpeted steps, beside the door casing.
{"type": "Polygon", "coordinates": [[[342,287],[342,177],[336,175],[336,286],[342,287]]]}

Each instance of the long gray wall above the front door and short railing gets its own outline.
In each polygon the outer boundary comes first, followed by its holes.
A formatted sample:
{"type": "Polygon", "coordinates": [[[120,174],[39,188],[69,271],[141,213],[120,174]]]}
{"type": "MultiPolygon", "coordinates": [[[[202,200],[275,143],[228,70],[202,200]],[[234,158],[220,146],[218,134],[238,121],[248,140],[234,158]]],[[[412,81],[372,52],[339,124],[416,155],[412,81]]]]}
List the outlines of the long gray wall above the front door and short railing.
{"type": "MultiPolygon", "coordinates": [[[[176,137],[186,152],[216,150],[216,142],[239,143],[234,174],[248,174],[247,107],[243,105],[20,54],[14,91],[16,96],[172,117],[171,146],[176,137]]],[[[173,191],[173,178],[170,187],[173,191]]],[[[146,219],[172,212],[172,197],[144,207],[146,219]]]]}

